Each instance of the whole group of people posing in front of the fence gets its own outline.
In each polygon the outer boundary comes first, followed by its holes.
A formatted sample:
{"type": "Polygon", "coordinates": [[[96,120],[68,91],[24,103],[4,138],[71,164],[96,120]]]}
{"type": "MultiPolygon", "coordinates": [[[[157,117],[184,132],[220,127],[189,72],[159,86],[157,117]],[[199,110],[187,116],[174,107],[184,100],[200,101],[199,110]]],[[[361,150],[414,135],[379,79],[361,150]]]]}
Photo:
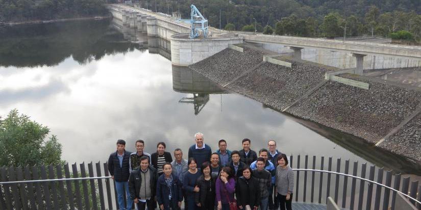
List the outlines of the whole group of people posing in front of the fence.
{"type": "Polygon", "coordinates": [[[143,140],[136,141],[134,153],[118,140],[108,170],[119,209],[132,209],[134,202],[138,210],[153,210],[157,204],[161,210],[178,210],[183,200],[186,210],[230,210],[235,203],[240,210],[291,209],[294,174],[286,155],[276,149],[276,141],[269,140],[268,149],[257,154],[247,138],[239,151],[230,151],[221,139],[215,152],[204,143],[202,133],[196,133],[194,140],[188,159],[177,148],[174,161],[165,151],[165,142],[159,142],[151,155],[144,151],[143,140]]]}

